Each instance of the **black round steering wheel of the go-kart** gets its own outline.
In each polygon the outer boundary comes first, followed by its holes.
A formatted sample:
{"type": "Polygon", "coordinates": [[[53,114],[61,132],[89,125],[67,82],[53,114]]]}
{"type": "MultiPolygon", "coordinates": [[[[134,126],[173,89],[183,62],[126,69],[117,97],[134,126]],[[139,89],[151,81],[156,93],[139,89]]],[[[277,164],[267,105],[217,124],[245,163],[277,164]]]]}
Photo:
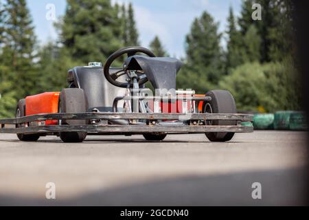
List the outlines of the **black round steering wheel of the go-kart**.
{"type": "MultiPolygon", "coordinates": [[[[155,54],[151,50],[148,50],[147,48],[144,48],[144,47],[131,46],[131,47],[123,47],[122,49],[117,50],[116,52],[111,54],[111,56],[107,58],[106,63],[104,65],[104,76],[106,77],[109,83],[117,87],[123,87],[123,88],[128,87],[129,83],[122,83],[122,82],[119,82],[119,80],[117,80],[117,78],[126,74],[126,67],[122,67],[122,69],[120,69],[117,72],[111,72],[111,64],[117,58],[119,58],[119,56],[127,54],[127,56],[129,57],[129,56],[135,55],[136,53],[143,53],[150,57],[155,57],[155,54]]],[[[143,72],[137,72],[137,75],[139,76],[143,74],[144,74],[143,72]]],[[[142,85],[146,83],[147,81],[148,81],[148,78],[146,76],[143,76],[143,77],[140,77],[140,80],[138,81],[138,83],[139,85],[142,85]]]]}

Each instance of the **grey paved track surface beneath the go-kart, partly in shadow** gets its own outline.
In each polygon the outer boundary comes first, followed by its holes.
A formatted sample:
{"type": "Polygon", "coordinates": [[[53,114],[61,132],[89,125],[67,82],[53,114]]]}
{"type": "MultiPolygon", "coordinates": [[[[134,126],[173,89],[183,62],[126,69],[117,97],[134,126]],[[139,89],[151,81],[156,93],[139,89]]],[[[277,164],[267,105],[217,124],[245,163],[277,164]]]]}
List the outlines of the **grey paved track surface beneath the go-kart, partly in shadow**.
{"type": "Polygon", "coordinates": [[[303,205],[305,132],[238,133],[231,142],[205,135],[58,137],[19,142],[0,134],[0,205],[303,205]],[[47,182],[56,199],[45,199],[47,182]],[[262,199],[252,199],[253,182],[262,199]]]}

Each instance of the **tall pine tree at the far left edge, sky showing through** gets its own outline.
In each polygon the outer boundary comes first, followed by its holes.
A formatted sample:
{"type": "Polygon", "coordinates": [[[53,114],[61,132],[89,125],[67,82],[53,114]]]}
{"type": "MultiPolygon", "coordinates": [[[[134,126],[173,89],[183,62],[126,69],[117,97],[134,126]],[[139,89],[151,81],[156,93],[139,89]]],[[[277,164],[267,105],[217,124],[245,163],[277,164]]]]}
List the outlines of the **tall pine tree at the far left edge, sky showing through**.
{"type": "Polygon", "coordinates": [[[3,65],[10,67],[8,74],[15,74],[14,85],[21,98],[36,92],[36,36],[25,0],[8,0],[5,11],[7,19],[3,38],[3,65]]]}

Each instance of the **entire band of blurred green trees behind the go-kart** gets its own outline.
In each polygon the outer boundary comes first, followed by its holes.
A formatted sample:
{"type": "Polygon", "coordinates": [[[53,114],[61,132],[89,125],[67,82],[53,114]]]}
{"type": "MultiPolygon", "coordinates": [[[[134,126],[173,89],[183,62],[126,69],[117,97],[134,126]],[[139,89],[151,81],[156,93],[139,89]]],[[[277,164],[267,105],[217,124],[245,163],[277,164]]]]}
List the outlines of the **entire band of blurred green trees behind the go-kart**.
{"type": "MultiPolygon", "coordinates": [[[[38,49],[26,1],[1,3],[1,118],[14,115],[20,98],[66,87],[71,67],[104,62],[120,47],[139,45],[132,4],[67,0],[65,16],[57,24],[60,44],[50,42],[38,49]]],[[[218,23],[203,12],[186,36],[185,65],[177,76],[177,87],[201,94],[219,87],[229,89],[242,110],[299,109],[291,10],[293,4],[286,0],[243,1],[238,19],[230,9],[226,52],[220,47],[218,23]],[[251,18],[253,3],[262,5],[262,21],[251,18]]],[[[157,56],[168,56],[157,36],[150,47],[157,56]]]]}

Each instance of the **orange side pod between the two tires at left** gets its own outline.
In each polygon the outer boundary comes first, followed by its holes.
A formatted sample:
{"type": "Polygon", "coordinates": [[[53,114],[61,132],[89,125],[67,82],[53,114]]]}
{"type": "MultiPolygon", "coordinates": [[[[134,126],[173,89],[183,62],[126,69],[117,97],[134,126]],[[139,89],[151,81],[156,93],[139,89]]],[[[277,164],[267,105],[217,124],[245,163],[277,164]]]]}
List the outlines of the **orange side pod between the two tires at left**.
{"type": "MultiPolygon", "coordinates": [[[[58,113],[58,99],[60,92],[45,92],[25,98],[25,115],[39,113],[58,113]]],[[[58,124],[58,120],[46,120],[45,124],[58,124]]]]}

